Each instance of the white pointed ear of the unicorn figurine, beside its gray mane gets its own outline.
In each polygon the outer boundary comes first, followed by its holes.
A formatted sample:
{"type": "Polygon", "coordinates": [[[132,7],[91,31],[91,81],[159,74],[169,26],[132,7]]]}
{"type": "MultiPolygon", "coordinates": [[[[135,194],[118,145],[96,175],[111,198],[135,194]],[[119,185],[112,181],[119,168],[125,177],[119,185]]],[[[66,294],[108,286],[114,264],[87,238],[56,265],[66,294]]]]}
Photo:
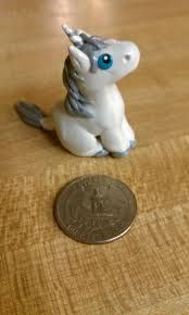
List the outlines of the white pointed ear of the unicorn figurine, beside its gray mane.
{"type": "Polygon", "coordinates": [[[86,73],[90,70],[90,60],[86,53],[75,46],[70,46],[68,54],[73,67],[79,73],[86,73]]]}

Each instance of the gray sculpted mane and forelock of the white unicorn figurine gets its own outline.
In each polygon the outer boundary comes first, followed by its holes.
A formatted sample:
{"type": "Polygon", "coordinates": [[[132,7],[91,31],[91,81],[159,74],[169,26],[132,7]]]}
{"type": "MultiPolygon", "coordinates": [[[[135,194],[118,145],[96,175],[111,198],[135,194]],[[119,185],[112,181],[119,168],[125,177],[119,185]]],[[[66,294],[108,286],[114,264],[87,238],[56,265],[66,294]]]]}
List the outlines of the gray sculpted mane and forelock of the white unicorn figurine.
{"type": "MultiPolygon", "coordinates": [[[[94,52],[106,47],[108,43],[97,36],[87,36],[84,33],[79,36],[83,38],[84,43],[76,46],[88,55],[91,62],[90,72],[94,73],[98,68],[94,52]]],[[[86,104],[89,104],[90,101],[81,94],[77,85],[79,80],[83,81],[83,77],[76,73],[72,66],[70,56],[67,56],[63,70],[63,84],[67,89],[67,96],[64,103],[65,109],[71,115],[91,118],[93,115],[86,109],[86,104]]]]}

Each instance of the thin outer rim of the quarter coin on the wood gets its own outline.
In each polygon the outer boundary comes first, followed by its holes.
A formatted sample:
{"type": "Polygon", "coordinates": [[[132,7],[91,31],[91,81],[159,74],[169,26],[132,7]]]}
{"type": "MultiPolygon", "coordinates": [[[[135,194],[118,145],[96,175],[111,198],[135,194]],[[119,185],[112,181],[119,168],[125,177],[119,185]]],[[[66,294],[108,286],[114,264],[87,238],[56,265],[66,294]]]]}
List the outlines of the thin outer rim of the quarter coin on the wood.
{"type": "Polygon", "coordinates": [[[124,181],[121,181],[119,179],[115,178],[115,177],[112,177],[112,176],[109,176],[109,175],[99,175],[99,174],[88,174],[88,175],[83,175],[83,176],[78,176],[76,178],[74,178],[73,180],[68,181],[67,184],[65,184],[65,186],[63,186],[59,191],[58,191],[58,194],[56,194],[56,198],[54,200],[54,205],[53,205],[53,215],[54,215],[54,218],[55,218],[55,222],[58,223],[60,229],[66,235],[68,236],[71,239],[77,241],[77,242],[80,242],[80,243],[84,243],[84,244],[104,244],[104,243],[110,243],[110,242],[113,242],[115,241],[116,239],[119,239],[121,237],[123,237],[126,232],[129,231],[129,229],[131,228],[135,219],[136,219],[136,216],[137,216],[137,213],[138,213],[138,206],[137,206],[137,199],[134,194],[134,192],[131,191],[131,189],[124,182],[124,181]],[[108,240],[102,240],[102,241],[97,241],[97,242],[90,242],[90,241],[85,241],[85,240],[81,240],[79,237],[73,235],[72,232],[70,232],[67,229],[66,229],[66,226],[62,225],[62,222],[60,220],[59,218],[59,207],[58,207],[58,203],[59,203],[59,200],[62,196],[62,192],[65,190],[66,192],[66,188],[71,187],[71,185],[74,185],[75,182],[77,181],[80,181],[81,179],[86,179],[88,177],[105,177],[105,178],[109,178],[111,180],[114,180],[114,181],[117,181],[118,184],[122,184],[122,186],[125,186],[128,191],[131,193],[133,196],[133,201],[135,203],[135,216],[130,223],[130,225],[128,226],[128,228],[126,228],[122,234],[113,237],[113,238],[110,238],[108,240]]]}

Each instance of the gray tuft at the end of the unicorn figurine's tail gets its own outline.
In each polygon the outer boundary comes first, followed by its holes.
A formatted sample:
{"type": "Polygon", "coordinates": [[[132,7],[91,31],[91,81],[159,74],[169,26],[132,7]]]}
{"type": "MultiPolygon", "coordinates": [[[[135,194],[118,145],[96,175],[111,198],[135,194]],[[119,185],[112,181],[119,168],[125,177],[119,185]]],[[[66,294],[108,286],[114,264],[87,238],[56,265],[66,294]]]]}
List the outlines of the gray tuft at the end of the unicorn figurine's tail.
{"type": "Polygon", "coordinates": [[[41,119],[47,116],[38,106],[22,101],[16,104],[16,111],[24,123],[36,128],[42,127],[41,119]]]}

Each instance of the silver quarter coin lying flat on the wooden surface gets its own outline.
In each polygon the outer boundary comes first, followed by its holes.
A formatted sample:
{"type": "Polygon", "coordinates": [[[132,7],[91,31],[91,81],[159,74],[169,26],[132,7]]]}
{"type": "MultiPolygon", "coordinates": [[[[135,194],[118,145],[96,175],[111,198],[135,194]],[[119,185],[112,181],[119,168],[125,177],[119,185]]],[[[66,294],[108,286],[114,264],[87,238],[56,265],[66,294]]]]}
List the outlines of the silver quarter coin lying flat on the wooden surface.
{"type": "Polygon", "coordinates": [[[122,181],[88,175],[63,187],[55,200],[59,226],[84,243],[106,243],[125,235],[137,214],[131,190],[122,181]]]}

